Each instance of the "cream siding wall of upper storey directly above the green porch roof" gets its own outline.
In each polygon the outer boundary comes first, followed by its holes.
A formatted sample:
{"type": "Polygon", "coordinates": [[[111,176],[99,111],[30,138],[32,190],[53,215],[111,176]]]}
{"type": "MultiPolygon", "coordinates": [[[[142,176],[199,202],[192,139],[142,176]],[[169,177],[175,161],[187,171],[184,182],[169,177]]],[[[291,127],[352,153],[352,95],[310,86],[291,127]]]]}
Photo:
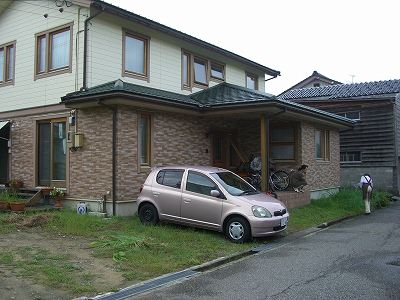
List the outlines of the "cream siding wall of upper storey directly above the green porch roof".
{"type": "MultiPolygon", "coordinates": [[[[257,70],[234,62],[215,52],[195,47],[181,40],[109,14],[101,14],[91,21],[89,32],[88,83],[95,86],[122,78],[123,81],[149,87],[188,94],[181,89],[181,49],[226,64],[226,81],[245,86],[245,72],[257,70]],[[122,30],[129,29],[150,37],[149,82],[122,76],[122,30]]],[[[264,91],[264,74],[259,74],[259,89],[264,91]]],[[[210,86],[215,85],[210,82],[210,86]]],[[[193,88],[193,92],[199,89],[193,88]]]]}

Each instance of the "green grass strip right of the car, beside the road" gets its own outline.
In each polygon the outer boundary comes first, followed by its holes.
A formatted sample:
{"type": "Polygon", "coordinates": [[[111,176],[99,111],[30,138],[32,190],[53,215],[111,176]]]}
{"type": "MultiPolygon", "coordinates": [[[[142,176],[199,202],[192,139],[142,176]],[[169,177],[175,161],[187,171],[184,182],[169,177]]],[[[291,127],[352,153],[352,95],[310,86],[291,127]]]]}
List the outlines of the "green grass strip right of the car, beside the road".
{"type": "MultiPolygon", "coordinates": [[[[390,202],[390,194],[374,191],[372,207],[385,207],[390,202]]],[[[288,232],[320,225],[324,222],[364,213],[364,202],[359,189],[341,189],[337,194],[314,200],[311,204],[290,209],[288,232]]]]}

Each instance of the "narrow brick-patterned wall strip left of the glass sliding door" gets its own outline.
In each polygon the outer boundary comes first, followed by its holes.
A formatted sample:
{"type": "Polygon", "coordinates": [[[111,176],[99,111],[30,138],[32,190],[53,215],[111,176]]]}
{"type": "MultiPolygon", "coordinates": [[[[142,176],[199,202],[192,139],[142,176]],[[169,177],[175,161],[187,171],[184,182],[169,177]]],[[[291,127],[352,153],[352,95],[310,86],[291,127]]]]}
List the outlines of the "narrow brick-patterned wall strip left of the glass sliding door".
{"type": "Polygon", "coordinates": [[[22,179],[24,186],[35,186],[35,121],[30,117],[12,120],[11,142],[11,178],[22,179]]]}

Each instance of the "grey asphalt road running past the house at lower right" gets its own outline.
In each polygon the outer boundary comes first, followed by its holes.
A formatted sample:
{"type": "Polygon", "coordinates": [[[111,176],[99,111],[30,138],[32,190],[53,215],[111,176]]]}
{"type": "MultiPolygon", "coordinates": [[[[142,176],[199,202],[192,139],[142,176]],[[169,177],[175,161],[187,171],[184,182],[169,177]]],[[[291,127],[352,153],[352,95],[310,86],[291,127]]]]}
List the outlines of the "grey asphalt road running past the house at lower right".
{"type": "Polygon", "coordinates": [[[134,299],[400,299],[400,201],[134,299]]]}

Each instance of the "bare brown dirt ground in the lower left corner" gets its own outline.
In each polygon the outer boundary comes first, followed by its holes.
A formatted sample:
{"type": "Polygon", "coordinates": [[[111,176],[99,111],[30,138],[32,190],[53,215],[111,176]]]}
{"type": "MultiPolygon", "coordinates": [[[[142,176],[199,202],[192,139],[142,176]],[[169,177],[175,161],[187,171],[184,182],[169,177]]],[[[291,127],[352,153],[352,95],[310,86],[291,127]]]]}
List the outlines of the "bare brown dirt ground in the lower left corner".
{"type": "MultiPolygon", "coordinates": [[[[0,250],[15,253],[29,247],[43,249],[48,253],[70,257],[81,272],[93,274],[92,286],[98,292],[121,287],[124,278],[113,267],[113,261],[96,258],[91,254],[90,241],[84,238],[52,235],[40,227],[22,227],[12,233],[0,235],[0,250]]],[[[35,281],[33,276],[21,276],[15,268],[0,263],[0,299],[72,299],[71,292],[52,289],[35,281]]],[[[87,296],[93,296],[87,295],[87,296]]]]}

